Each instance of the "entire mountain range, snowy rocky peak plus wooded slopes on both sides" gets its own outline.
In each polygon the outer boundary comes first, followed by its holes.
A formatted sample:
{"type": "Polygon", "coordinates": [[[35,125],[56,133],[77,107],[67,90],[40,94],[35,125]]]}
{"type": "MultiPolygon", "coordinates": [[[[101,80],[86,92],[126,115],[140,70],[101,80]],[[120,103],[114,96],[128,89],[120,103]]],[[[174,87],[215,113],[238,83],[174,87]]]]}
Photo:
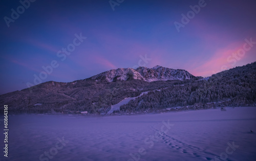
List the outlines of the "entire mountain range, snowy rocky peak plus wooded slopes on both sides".
{"type": "Polygon", "coordinates": [[[110,111],[112,105],[127,97],[137,98],[120,106],[119,113],[154,112],[198,104],[205,108],[209,102],[223,101],[230,106],[255,105],[256,62],[207,79],[160,66],[119,68],[70,83],[50,81],[6,93],[0,95],[0,103],[8,104],[10,113],[87,111],[96,114],[110,111]],[[142,92],[145,94],[141,95],[142,92]]]}

